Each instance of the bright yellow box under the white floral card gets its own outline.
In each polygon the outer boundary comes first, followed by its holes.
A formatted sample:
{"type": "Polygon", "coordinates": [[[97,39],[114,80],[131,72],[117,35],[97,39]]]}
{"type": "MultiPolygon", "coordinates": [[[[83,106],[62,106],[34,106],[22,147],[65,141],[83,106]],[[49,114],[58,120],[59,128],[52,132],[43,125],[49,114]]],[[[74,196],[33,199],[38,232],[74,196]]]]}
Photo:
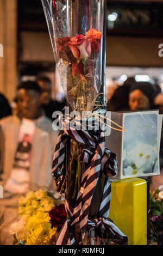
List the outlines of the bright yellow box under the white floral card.
{"type": "Polygon", "coordinates": [[[147,245],[147,181],[111,181],[109,218],[128,237],[129,245],[147,245]]]}

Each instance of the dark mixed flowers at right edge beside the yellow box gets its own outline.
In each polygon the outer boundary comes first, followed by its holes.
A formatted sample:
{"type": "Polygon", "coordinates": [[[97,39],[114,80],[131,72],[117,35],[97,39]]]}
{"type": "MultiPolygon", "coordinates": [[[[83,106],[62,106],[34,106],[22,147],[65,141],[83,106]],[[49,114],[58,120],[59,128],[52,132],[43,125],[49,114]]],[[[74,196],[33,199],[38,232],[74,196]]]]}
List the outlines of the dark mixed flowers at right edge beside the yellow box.
{"type": "Polygon", "coordinates": [[[150,192],[150,236],[163,245],[163,190],[150,192]]]}

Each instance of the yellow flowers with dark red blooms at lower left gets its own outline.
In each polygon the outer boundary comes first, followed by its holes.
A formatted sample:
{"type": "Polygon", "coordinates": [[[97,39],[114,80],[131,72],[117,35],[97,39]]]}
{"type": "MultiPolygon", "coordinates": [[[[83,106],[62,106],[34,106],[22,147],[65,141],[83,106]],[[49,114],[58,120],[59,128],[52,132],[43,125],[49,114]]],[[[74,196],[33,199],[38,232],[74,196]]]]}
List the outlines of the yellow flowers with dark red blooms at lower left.
{"type": "Polygon", "coordinates": [[[64,204],[55,205],[53,194],[39,190],[28,192],[18,202],[20,221],[11,224],[14,244],[55,245],[62,225],[67,220],[64,204]]]}

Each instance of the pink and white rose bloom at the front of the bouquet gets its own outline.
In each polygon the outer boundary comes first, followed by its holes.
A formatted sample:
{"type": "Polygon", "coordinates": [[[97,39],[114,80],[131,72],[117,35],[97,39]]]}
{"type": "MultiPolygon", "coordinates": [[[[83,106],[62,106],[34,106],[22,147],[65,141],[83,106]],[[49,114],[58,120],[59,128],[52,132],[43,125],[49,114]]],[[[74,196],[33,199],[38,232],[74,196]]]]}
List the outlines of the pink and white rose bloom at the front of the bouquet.
{"type": "Polygon", "coordinates": [[[91,42],[84,35],[74,36],[67,42],[67,45],[76,59],[87,58],[91,54],[91,42]]]}

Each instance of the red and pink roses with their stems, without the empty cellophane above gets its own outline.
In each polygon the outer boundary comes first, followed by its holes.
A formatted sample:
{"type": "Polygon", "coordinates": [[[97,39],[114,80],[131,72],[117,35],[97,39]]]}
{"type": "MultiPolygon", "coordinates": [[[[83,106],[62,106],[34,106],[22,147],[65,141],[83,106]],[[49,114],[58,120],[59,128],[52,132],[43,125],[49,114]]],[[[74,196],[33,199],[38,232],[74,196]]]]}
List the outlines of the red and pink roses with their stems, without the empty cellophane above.
{"type": "Polygon", "coordinates": [[[101,38],[102,33],[91,28],[85,36],[81,34],[57,39],[60,58],[57,66],[60,70],[61,82],[64,84],[61,66],[68,62],[67,99],[78,112],[92,109],[92,100],[95,100],[100,87],[97,54],[101,49],[101,38]]]}

